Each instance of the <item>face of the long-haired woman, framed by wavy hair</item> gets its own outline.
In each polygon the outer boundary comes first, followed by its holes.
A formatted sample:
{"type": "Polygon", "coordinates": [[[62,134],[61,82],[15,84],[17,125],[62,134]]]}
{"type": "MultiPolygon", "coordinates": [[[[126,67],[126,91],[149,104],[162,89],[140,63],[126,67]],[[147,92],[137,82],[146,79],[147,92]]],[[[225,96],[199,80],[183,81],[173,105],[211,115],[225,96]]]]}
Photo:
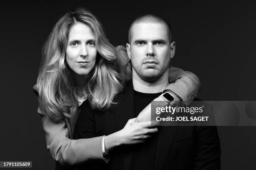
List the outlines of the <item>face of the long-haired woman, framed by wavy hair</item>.
{"type": "Polygon", "coordinates": [[[78,75],[87,76],[95,66],[97,50],[95,36],[84,23],[76,23],[69,30],[66,61],[78,75]]]}

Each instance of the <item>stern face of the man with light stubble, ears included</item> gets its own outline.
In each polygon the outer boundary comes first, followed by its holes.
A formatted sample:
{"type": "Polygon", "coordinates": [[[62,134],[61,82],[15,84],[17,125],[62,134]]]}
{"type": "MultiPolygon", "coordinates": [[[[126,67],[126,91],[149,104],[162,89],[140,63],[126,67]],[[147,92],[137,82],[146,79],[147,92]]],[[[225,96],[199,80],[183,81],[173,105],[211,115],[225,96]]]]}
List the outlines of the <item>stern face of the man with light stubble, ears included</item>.
{"type": "Polygon", "coordinates": [[[169,43],[168,30],[163,23],[134,24],[130,43],[126,45],[128,56],[142,80],[157,80],[169,68],[175,42],[169,43]]]}

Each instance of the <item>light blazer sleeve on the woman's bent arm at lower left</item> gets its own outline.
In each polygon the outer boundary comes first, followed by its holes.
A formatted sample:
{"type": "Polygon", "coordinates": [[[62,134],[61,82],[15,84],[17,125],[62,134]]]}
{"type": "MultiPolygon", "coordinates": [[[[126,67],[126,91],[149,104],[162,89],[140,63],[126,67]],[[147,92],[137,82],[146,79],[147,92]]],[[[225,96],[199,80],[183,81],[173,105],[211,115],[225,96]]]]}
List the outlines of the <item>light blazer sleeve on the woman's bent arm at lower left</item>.
{"type": "MultiPolygon", "coordinates": [[[[37,94],[36,86],[33,87],[37,94]]],[[[72,140],[70,138],[71,128],[64,121],[52,121],[46,116],[43,109],[38,107],[41,115],[44,134],[46,137],[47,149],[51,157],[62,166],[70,166],[82,163],[91,159],[102,159],[102,138],[103,136],[72,140]]]]}

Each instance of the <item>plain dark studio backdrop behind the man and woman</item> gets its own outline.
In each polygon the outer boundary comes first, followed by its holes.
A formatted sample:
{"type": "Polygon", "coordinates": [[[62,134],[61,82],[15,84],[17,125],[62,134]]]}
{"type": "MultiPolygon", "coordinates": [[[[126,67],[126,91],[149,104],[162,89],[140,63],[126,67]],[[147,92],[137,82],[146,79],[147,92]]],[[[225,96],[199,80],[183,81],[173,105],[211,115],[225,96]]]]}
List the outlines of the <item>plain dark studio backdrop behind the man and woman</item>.
{"type": "MultiPolygon", "coordinates": [[[[201,100],[256,100],[256,2],[70,1],[1,3],[0,160],[28,160],[33,169],[54,169],[37,114],[36,84],[41,47],[57,20],[78,6],[102,22],[113,45],[125,45],[128,27],[154,13],[172,25],[173,65],[201,80],[201,100]]],[[[218,127],[221,166],[256,169],[256,127],[218,127]]]]}

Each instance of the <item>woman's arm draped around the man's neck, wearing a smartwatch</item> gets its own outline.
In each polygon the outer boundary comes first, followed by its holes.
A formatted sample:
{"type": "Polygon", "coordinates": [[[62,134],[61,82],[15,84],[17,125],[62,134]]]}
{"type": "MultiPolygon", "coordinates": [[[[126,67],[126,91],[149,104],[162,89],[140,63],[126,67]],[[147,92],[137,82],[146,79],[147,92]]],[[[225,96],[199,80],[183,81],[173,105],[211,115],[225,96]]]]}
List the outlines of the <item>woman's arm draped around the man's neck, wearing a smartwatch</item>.
{"type": "MultiPolygon", "coordinates": [[[[132,66],[128,58],[126,48],[123,46],[117,46],[115,48],[117,54],[117,60],[115,64],[121,69],[121,73],[125,81],[129,81],[132,78],[132,66]]],[[[171,90],[174,95],[177,95],[184,104],[189,105],[189,103],[197,96],[201,88],[200,80],[198,77],[188,71],[184,71],[177,67],[169,68],[169,82],[170,84],[166,89],[171,90]]],[[[165,101],[161,96],[157,97],[154,101],[165,101]]],[[[172,102],[174,104],[174,102],[172,102]]],[[[167,105],[167,103],[166,103],[167,105]]],[[[144,108],[138,115],[136,122],[147,122],[151,121],[151,104],[144,108]]]]}

